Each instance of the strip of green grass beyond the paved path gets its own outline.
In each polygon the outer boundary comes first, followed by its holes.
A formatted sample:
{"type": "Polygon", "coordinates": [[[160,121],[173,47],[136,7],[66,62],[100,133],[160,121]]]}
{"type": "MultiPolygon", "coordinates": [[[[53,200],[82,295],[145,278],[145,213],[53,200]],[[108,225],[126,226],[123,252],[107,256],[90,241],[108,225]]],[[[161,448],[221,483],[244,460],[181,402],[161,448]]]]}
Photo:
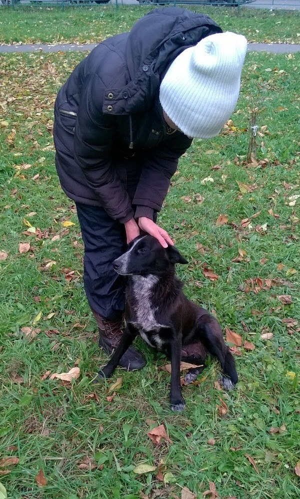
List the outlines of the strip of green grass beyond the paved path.
{"type": "MultiPolygon", "coordinates": [[[[224,31],[243,34],[249,42],[300,43],[297,11],[184,6],[207,14],[224,31]]],[[[97,43],[109,35],[130,29],[134,21],[153,7],[114,6],[24,7],[1,9],[0,43],[97,43]]]]}

